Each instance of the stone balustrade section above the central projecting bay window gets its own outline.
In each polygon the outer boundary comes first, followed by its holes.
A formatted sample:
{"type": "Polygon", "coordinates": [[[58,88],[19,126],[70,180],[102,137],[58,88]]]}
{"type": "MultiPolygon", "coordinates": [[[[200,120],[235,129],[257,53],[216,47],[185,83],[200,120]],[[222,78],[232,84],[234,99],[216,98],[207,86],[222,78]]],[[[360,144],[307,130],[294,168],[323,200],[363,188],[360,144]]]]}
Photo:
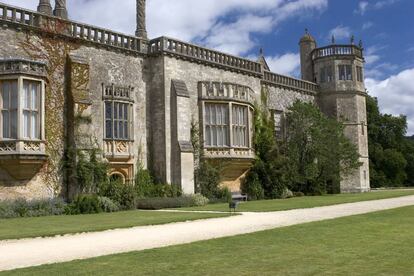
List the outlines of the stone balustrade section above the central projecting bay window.
{"type": "Polygon", "coordinates": [[[248,59],[224,54],[177,39],[160,37],[150,41],[149,53],[156,55],[167,53],[181,58],[209,63],[218,67],[226,67],[235,71],[252,75],[262,74],[262,65],[248,59]]]}

